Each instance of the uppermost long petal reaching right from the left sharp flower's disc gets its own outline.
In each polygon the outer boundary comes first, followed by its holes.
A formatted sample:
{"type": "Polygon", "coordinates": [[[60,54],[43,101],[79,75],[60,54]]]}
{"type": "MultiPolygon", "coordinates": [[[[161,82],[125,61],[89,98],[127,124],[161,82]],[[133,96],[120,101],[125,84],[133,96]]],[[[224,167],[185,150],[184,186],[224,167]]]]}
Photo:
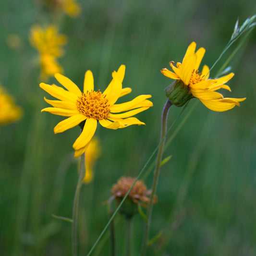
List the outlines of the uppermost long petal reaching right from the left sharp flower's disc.
{"type": "MultiPolygon", "coordinates": [[[[134,108],[144,107],[144,105],[141,105],[141,106],[136,106],[136,105],[141,104],[142,102],[144,102],[144,100],[146,98],[151,98],[151,97],[152,97],[151,95],[140,95],[131,101],[121,103],[121,104],[114,104],[113,106],[110,107],[110,112],[118,113],[118,112],[122,112],[122,111],[131,110],[134,108]]],[[[145,102],[145,105],[148,104],[148,102],[151,102],[151,101],[147,100],[145,102]]],[[[151,106],[153,106],[152,102],[151,102],[151,106]]],[[[149,107],[151,107],[151,106],[149,106],[149,107]]]]}

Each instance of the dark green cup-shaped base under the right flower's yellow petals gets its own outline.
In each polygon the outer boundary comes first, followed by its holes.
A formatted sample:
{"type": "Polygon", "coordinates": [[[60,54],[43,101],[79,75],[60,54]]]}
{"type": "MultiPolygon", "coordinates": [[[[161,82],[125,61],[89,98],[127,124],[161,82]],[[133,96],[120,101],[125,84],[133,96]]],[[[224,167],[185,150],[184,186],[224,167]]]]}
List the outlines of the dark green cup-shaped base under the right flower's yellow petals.
{"type": "Polygon", "coordinates": [[[184,85],[182,80],[176,80],[167,86],[165,88],[165,95],[177,107],[182,107],[187,101],[195,98],[189,93],[189,87],[184,85]]]}

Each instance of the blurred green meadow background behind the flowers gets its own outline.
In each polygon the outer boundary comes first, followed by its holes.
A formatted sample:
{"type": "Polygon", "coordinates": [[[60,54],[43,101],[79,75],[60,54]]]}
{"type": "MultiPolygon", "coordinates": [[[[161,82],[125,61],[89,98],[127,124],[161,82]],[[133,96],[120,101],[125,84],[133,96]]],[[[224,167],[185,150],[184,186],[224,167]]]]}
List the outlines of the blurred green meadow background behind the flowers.
{"type": "MultiPolygon", "coordinates": [[[[37,1],[1,1],[0,82],[22,106],[19,122],[0,127],[0,254],[3,256],[69,256],[71,223],[51,214],[72,218],[78,179],[73,142],[79,127],[54,134],[63,117],[40,113],[47,107],[39,88],[37,51],[29,44],[33,24],[59,24],[69,38],[59,60],[64,74],[81,89],[90,69],[95,88],[104,90],[111,72],[126,65],[123,86],[131,94],[151,94],[154,107],[136,117],[146,126],[110,130],[98,126],[101,156],[93,183],[83,185],[79,209],[79,256],[86,255],[108,221],[103,203],[122,175],[136,177],[158,145],[164,88],[171,79],[160,69],[182,61],[195,41],[206,48],[203,63],[211,66],[240,23],[256,13],[254,0],[80,1],[76,19],[56,17],[37,1]],[[19,49],[6,38],[21,37],[19,49]]],[[[212,76],[237,44],[224,55],[212,76]]],[[[224,96],[247,99],[226,112],[208,110],[192,100],[167,135],[164,157],[172,155],[160,173],[158,204],[153,209],[150,237],[162,231],[148,256],[256,255],[256,31],[232,59],[235,76],[224,96]]],[[[56,83],[54,78],[49,83],[56,83]]],[[[49,97],[50,98],[50,97],[49,97]]],[[[172,107],[168,127],[182,108],[172,107]]],[[[152,162],[152,161],[151,161],[152,162]]],[[[150,162],[150,164],[151,164],[150,162]]],[[[149,165],[150,165],[149,164],[149,165]]],[[[147,169],[147,168],[146,168],[147,169]]],[[[146,177],[148,188],[153,172],[146,177]]],[[[115,203],[112,203],[115,208],[115,203]]],[[[146,210],[144,209],[144,212],[146,210]]],[[[124,255],[124,220],[115,218],[117,256],[124,255]]],[[[139,255],[143,219],[134,217],[133,255],[139,255]]],[[[93,256],[110,253],[108,232],[93,256]]]]}

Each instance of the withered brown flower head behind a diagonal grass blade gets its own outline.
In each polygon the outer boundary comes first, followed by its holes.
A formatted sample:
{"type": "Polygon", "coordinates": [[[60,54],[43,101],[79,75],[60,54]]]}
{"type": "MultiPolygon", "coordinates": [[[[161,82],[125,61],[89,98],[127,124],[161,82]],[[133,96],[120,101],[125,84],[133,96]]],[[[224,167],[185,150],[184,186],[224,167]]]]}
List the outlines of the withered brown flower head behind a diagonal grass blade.
{"type": "MultiPolygon", "coordinates": [[[[136,178],[132,177],[121,177],[117,183],[112,186],[111,194],[116,199],[122,199],[127,194],[135,180],[136,178]]],[[[135,204],[140,203],[142,206],[146,207],[149,204],[150,195],[151,190],[147,190],[145,183],[141,180],[138,180],[134,184],[127,197],[130,198],[135,204]]],[[[158,197],[155,195],[153,200],[154,204],[156,204],[158,197]]]]}

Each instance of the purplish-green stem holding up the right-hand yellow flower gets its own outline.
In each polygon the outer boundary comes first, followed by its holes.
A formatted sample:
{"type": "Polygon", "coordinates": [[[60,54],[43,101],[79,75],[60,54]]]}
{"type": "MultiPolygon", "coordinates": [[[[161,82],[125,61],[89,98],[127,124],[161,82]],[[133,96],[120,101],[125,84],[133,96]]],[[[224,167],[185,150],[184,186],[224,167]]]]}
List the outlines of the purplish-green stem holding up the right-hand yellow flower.
{"type": "Polygon", "coordinates": [[[149,206],[147,209],[147,215],[146,215],[147,221],[145,224],[141,256],[146,256],[146,248],[147,248],[148,237],[149,237],[149,228],[150,228],[150,222],[151,222],[151,216],[152,216],[152,210],[153,210],[153,201],[154,201],[153,199],[154,199],[154,195],[156,194],[156,189],[157,189],[157,184],[158,184],[160,164],[161,164],[161,160],[162,160],[165,136],[166,136],[167,116],[168,116],[168,111],[171,108],[171,105],[172,105],[171,101],[167,100],[165,103],[165,106],[163,108],[163,112],[162,112],[162,130],[161,130],[161,138],[160,138],[161,144],[158,148],[158,156],[157,156],[157,163],[156,163],[156,169],[155,169],[153,186],[152,186],[152,193],[151,193],[151,197],[150,197],[149,206]]]}

